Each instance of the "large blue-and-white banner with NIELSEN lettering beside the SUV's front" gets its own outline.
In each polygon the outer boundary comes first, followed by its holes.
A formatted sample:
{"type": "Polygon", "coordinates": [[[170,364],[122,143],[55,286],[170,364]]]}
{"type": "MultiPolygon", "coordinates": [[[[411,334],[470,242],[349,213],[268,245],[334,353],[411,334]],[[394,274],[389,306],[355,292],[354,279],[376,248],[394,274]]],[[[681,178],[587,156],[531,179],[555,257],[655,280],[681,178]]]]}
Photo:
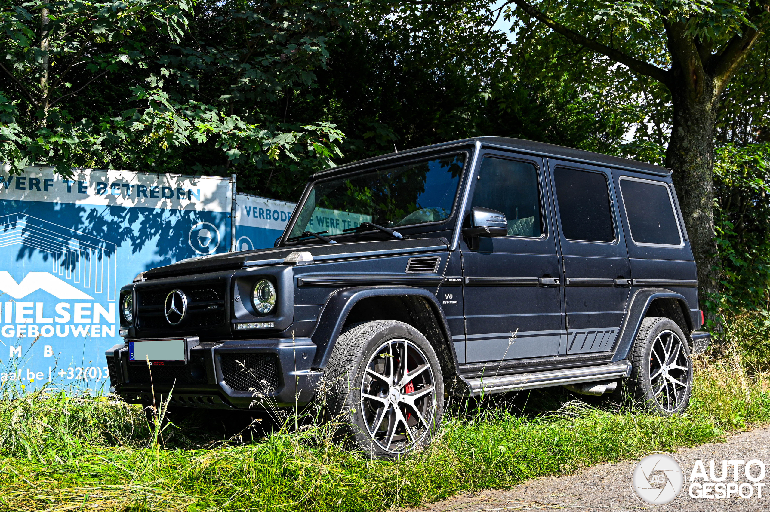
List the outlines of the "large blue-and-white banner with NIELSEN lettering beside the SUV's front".
{"type": "Polygon", "coordinates": [[[102,389],[105,350],[122,341],[120,287],[152,267],[229,251],[232,199],[232,180],[213,176],[3,169],[0,387],[102,389]]]}

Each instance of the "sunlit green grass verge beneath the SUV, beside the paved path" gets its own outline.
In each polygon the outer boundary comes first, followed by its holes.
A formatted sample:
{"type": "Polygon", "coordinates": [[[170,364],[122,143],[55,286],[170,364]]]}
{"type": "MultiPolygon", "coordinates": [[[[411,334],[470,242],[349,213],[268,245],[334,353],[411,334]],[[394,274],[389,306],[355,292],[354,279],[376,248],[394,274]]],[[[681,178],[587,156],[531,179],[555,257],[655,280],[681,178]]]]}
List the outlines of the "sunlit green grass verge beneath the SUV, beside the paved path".
{"type": "Polygon", "coordinates": [[[216,442],[210,423],[153,431],[106,397],[0,403],[0,510],[383,510],[506,487],[591,464],[721,439],[770,420],[768,379],[735,351],[697,362],[687,413],[591,406],[564,390],[447,414],[429,448],[388,462],[329,440],[328,427],[216,442]]]}

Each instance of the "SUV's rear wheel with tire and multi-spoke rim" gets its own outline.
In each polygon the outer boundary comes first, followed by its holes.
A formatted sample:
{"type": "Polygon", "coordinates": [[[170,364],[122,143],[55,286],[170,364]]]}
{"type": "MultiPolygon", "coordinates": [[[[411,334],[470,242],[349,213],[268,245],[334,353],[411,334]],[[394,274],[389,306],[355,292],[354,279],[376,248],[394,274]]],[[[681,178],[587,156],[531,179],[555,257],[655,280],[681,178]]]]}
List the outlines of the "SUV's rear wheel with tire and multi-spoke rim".
{"type": "Polygon", "coordinates": [[[692,359],[685,334],[673,320],[645,318],[631,352],[626,390],[645,410],[671,416],[684,412],[692,394],[692,359]]]}

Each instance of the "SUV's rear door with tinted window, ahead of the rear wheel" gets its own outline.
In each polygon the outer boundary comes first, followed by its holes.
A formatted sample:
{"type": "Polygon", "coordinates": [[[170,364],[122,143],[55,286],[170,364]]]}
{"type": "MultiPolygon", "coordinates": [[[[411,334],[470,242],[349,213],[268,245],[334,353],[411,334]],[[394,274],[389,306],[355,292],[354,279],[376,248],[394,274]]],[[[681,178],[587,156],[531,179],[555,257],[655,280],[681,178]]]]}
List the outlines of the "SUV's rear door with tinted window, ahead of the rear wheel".
{"type": "Polygon", "coordinates": [[[548,159],[564,258],[567,354],[612,350],[631,291],[609,169],[548,159]]]}

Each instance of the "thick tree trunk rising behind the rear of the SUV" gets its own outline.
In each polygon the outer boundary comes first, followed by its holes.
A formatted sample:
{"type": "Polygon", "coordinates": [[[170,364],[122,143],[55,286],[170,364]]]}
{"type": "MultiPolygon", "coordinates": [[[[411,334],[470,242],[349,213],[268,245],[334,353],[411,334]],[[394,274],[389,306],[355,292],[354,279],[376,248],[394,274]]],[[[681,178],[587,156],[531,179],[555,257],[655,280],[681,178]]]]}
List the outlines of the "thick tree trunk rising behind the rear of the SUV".
{"type": "MultiPolygon", "coordinates": [[[[681,83],[681,82],[680,82],[681,83]]],[[[714,80],[706,77],[697,89],[670,87],[674,107],[666,166],[674,169],[682,215],[695,263],[701,309],[718,291],[719,259],[714,239],[714,122],[718,96],[714,80]]]]}

